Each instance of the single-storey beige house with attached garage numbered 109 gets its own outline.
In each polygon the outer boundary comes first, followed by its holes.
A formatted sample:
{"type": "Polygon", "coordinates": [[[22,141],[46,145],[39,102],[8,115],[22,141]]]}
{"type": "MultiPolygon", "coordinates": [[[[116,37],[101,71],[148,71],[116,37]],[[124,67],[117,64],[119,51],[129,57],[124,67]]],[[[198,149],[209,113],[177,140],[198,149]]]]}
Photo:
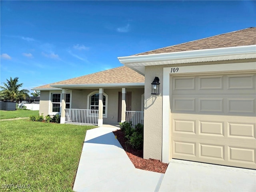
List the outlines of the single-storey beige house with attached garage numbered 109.
{"type": "Polygon", "coordinates": [[[124,66],[34,88],[40,113],[143,122],[146,159],[256,169],[256,28],[118,59],[124,66]]]}

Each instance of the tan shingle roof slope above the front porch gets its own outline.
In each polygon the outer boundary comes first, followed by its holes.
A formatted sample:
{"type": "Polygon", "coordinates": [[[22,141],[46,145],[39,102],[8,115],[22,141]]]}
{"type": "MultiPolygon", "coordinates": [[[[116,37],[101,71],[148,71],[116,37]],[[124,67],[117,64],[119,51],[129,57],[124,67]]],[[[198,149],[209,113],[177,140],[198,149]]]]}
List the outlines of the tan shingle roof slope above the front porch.
{"type": "Polygon", "coordinates": [[[112,84],[112,83],[144,83],[145,78],[134,70],[122,66],[93,74],[88,74],[56,83],[51,83],[34,89],[52,88],[50,85],[58,84],[112,84]]]}

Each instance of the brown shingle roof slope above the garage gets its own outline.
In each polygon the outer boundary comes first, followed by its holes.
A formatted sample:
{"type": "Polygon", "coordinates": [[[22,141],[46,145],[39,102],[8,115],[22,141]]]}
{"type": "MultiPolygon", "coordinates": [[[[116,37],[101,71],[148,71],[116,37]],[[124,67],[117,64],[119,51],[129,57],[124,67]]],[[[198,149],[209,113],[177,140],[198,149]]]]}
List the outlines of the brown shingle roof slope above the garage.
{"type": "Polygon", "coordinates": [[[234,32],[220,34],[200,40],[190,41],[178,45],[168,46],[136,55],[148,55],[158,53],[170,53],[180,51],[214,49],[236,46],[247,46],[256,44],[256,27],[250,27],[234,32]]]}

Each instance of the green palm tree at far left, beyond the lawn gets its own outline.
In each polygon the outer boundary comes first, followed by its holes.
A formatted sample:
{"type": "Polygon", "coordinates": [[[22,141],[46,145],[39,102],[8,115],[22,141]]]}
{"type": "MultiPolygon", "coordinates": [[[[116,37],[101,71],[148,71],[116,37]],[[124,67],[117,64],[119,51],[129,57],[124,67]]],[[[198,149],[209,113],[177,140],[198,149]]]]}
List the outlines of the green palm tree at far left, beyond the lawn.
{"type": "Polygon", "coordinates": [[[0,97],[3,100],[8,100],[12,102],[19,102],[20,100],[26,99],[26,97],[29,97],[28,93],[30,93],[27,89],[19,90],[23,83],[18,83],[19,80],[18,77],[15,77],[12,79],[10,77],[10,80],[6,79],[7,83],[4,83],[4,86],[0,86],[2,89],[0,91],[0,97]]]}

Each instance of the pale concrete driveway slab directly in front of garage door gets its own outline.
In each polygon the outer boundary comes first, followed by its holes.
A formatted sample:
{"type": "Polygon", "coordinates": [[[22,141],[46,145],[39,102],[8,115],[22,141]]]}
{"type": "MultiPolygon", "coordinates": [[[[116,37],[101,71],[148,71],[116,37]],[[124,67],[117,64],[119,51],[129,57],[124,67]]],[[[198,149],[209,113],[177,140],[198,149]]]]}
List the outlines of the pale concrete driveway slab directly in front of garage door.
{"type": "Polygon", "coordinates": [[[172,159],[159,191],[256,191],[256,170],[172,159]]]}

